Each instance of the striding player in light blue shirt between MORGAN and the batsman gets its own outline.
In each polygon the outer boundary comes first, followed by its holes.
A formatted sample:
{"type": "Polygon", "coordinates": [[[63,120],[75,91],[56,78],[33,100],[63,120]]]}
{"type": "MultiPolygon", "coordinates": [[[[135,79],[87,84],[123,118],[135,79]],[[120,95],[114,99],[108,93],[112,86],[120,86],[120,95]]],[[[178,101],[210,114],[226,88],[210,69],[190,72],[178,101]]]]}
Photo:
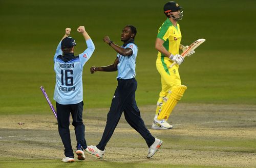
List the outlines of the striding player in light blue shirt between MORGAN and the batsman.
{"type": "Polygon", "coordinates": [[[97,146],[88,146],[86,149],[87,152],[99,158],[103,157],[106,143],[113,135],[122,112],[127,123],[145,139],[149,148],[147,158],[151,158],[163,142],[153,137],[150,131],[146,129],[135,101],[135,91],[137,89],[135,66],[138,53],[138,47],[134,43],[136,33],[137,30],[134,26],[125,26],[121,34],[122,46],[118,46],[110,40],[109,36],[105,36],[103,40],[118,53],[115,62],[108,66],[93,66],[90,69],[92,74],[96,71],[118,71],[118,86],[112,99],[102,138],[97,146]]]}

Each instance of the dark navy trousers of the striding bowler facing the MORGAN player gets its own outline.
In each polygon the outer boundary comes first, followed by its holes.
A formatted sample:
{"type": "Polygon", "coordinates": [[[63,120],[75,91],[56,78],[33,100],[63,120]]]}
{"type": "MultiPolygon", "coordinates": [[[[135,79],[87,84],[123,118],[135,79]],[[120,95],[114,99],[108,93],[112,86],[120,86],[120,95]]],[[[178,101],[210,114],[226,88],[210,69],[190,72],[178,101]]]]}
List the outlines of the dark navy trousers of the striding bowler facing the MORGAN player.
{"type": "Polygon", "coordinates": [[[150,147],[155,138],[151,135],[145,127],[145,124],[140,117],[140,110],[135,101],[135,91],[137,89],[137,81],[135,78],[118,80],[114,97],[112,99],[110,111],[106,120],[105,130],[102,138],[97,145],[97,148],[104,150],[106,143],[110,140],[114,130],[119,122],[119,119],[124,112],[124,117],[127,123],[130,124],[146,141],[147,146],[150,147]]]}

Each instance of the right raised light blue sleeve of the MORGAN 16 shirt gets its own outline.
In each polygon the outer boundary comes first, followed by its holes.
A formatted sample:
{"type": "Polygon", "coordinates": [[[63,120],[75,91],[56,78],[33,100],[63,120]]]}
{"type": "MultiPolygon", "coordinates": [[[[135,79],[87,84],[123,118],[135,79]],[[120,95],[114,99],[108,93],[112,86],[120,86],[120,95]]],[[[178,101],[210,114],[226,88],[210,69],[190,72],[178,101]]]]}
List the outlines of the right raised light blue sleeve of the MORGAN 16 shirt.
{"type": "Polygon", "coordinates": [[[91,58],[95,50],[95,46],[92,39],[86,40],[86,44],[87,44],[87,49],[84,50],[83,53],[79,54],[81,67],[83,67],[83,65],[91,58]]]}

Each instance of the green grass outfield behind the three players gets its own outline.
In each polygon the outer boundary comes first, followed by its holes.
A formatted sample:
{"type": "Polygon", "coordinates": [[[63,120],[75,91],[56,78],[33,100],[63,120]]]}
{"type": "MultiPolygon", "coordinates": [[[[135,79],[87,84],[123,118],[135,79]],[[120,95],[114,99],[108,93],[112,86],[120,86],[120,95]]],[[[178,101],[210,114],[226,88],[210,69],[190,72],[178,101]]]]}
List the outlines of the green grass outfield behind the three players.
{"type": "MultiPolygon", "coordinates": [[[[55,74],[53,55],[65,28],[72,28],[77,41],[75,54],[86,49],[76,32],[86,27],[96,50],[84,66],[84,109],[108,108],[117,86],[117,73],[90,74],[91,66],[112,64],[116,53],[102,39],[105,35],[121,45],[125,25],[136,26],[138,57],[136,79],[138,106],[155,105],[161,90],[155,66],[154,44],[158,28],[166,19],[167,1],[0,1],[0,115],[48,114],[49,106],[41,93],[44,86],[53,105],[55,74]]],[[[182,103],[247,104],[256,103],[256,1],[194,0],[178,1],[184,17],[180,23],[182,44],[199,38],[206,42],[196,54],[180,66],[182,84],[188,87],[182,103]]],[[[154,111],[152,111],[154,113],[154,111]]],[[[150,113],[150,114],[152,114],[150,113]]],[[[1,121],[1,118],[0,118],[1,121]]],[[[220,142],[221,143],[221,142],[220,142]]],[[[239,144],[238,144],[239,146],[239,144]]],[[[59,160],[1,160],[2,167],[64,167],[59,160]],[[46,163],[47,162],[47,163],[46,163]],[[24,163],[23,166],[20,163],[24,163]],[[3,166],[2,166],[3,165],[3,166]],[[11,166],[10,166],[11,165],[11,166]]],[[[93,167],[94,161],[85,163],[93,167]]],[[[102,167],[120,167],[125,163],[97,162],[102,167]]],[[[65,167],[80,167],[76,162],[65,167]]],[[[135,167],[125,164],[126,167],[135,167]]],[[[156,167],[141,163],[136,167],[156,167]]],[[[161,167],[183,167],[163,165],[161,167]]],[[[205,167],[185,165],[185,167],[205,167]]],[[[214,166],[216,168],[216,166],[214,166]]]]}

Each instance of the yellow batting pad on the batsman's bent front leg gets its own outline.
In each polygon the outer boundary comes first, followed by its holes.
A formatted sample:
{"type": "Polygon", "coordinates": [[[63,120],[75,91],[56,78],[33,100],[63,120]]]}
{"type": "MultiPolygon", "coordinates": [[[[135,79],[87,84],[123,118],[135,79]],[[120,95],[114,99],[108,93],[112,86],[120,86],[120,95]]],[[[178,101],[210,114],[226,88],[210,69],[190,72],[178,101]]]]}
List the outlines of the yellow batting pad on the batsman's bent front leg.
{"type": "Polygon", "coordinates": [[[169,93],[166,96],[167,100],[163,101],[162,107],[159,109],[159,113],[157,116],[158,120],[166,119],[167,121],[167,119],[170,116],[170,113],[172,113],[178,101],[181,100],[186,89],[187,89],[186,86],[181,85],[173,89],[171,92],[169,91],[169,93]]]}

